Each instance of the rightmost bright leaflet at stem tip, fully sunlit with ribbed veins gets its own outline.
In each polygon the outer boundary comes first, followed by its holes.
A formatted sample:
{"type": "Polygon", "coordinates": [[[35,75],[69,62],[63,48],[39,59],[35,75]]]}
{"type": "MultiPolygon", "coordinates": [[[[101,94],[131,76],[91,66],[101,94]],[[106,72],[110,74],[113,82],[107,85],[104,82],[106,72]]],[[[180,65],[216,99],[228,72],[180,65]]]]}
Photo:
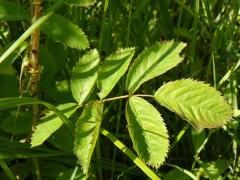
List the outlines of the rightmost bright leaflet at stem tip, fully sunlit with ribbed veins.
{"type": "Polygon", "coordinates": [[[199,128],[216,128],[232,116],[231,107],[218,91],[203,82],[182,79],[161,86],[154,98],[199,128]]]}

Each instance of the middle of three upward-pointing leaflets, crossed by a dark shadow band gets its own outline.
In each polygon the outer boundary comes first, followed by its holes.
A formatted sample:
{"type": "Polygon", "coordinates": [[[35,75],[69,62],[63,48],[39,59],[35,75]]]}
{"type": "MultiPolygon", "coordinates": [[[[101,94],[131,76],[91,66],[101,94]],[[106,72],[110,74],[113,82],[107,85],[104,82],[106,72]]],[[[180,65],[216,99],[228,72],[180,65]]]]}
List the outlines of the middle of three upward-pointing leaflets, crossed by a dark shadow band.
{"type": "Polygon", "coordinates": [[[118,49],[114,54],[105,59],[98,77],[98,87],[101,90],[98,95],[101,99],[109,94],[118,80],[127,71],[134,52],[134,48],[118,49]]]}

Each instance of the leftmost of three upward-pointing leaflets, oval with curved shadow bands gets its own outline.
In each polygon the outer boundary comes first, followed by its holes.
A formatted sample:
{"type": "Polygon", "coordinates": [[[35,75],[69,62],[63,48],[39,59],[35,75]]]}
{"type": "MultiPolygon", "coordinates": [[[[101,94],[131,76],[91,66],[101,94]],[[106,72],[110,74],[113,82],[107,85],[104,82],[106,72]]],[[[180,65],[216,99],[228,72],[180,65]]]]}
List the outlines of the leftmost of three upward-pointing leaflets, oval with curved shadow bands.
{"type": "Polygon", "coordinates": [[[84,55],[73,67],[71,90],[74,99],[82,104],[91,94],[97,80],[99,56],[96,49],[84,55]]]}

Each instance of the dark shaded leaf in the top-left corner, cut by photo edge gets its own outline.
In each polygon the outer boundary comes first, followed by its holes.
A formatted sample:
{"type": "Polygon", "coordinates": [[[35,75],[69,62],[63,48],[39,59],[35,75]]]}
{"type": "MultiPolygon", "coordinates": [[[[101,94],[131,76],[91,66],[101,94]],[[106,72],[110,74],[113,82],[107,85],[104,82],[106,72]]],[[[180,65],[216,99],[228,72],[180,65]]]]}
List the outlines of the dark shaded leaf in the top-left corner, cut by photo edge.
{"type": "Polygon", "coordinates": [[[18,21],[29,18],[28,12],[16,3],[0,0],[0,19],[18,21]]]}

